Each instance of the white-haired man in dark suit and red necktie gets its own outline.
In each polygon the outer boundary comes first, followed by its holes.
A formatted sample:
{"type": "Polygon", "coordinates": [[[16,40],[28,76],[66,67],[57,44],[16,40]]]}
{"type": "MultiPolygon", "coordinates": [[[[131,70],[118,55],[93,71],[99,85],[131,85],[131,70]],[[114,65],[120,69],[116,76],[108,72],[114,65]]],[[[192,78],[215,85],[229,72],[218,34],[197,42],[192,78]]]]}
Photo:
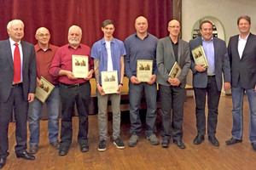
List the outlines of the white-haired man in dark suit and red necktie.
{"type": "Polygon", "coordinates": [[[7,25],[9,39],[0,41],[0,168],[9,156],[8,127],[15,107],[17,157],[34,160],[26,152],[26,117],[28,103],[35,95],[37,68],[34,46],[21,41],[24,24],[11,20],[7,25]]]}

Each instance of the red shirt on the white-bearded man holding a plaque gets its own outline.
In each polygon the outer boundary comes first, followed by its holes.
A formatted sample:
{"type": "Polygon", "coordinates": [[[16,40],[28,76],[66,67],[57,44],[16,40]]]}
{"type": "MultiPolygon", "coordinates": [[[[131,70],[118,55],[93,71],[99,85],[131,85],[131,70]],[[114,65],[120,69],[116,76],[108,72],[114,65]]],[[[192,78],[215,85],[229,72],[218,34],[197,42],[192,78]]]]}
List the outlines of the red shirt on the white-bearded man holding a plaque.
{"type": "Polygon", "coordinates": [[[49,74],[53,77],[59,77],[59,82],[65,84],[76,84],[86,82],[84,78],[78,78],[77,80],[70,80],[66,75],[59,76],[61,70],[72,71],[72,55],[87,55],[88,56],[88,70],[93,69],[93,59],[90,58],[90,47],[84,44],[79,44],[78,48],[72,48],[69,43],[59,48],[52,60],[49,67],[49,74]]]}

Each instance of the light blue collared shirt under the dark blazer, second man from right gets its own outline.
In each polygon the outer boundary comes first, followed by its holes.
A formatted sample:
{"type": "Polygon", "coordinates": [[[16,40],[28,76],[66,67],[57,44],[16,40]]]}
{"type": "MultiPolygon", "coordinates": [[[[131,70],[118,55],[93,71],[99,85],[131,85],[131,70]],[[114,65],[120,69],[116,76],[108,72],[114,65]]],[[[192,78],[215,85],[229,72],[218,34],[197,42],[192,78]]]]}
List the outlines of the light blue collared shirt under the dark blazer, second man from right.
{"type": "Polygon", "coordinates": [[[213,45],[213,37],[209,42],[206,42],[203,38],[202,46],[204,48],[205,54],[207,55],[207,61],[209,67],[207,68],[207,75],[214,76],[215,75],[215,57],[214,57],[214,45],[213,45]]]}

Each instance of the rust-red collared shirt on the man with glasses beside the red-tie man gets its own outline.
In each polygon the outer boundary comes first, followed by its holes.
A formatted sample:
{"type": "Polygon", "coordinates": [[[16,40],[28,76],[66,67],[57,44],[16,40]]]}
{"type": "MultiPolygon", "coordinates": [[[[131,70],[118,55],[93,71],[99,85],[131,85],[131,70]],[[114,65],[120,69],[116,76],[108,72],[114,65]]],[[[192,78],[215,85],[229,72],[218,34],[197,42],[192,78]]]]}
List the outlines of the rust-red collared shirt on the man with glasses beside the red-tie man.
{"type": "Polygon", "coordinates": [[[37,77],[44,77],[50,83],[57,85],[58,80],[49,74],[49,66],[59,47],[49,44],[49,48],[43,49],[38,44],[34,46],[37,58],[37,77]]]}

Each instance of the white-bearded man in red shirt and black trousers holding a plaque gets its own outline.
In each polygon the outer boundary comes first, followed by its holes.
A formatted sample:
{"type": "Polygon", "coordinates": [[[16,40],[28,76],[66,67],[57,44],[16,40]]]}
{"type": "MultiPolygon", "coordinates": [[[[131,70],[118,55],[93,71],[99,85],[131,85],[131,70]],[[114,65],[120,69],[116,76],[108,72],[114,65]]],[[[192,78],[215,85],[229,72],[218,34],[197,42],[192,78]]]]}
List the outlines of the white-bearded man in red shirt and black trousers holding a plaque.
{"type": "Polygon", "coordinates": [[[67,150],[72,142],[72,113],[77,105],[79,113],[78,141],[82,152],[88,151],[88,112],[90,105],[90,78],[94,72],[93,59],[90,58],[90,47],[81,44],[82,30],[79,26],[71,26],[68,31],[68,44],[59,48],[49,73],[58,77],[61,96],[61,146],[59,155],[67,155],[67,150]],[[77,78],[73,74],[73,55],[88,56],[88,75],[77,78]]]}

